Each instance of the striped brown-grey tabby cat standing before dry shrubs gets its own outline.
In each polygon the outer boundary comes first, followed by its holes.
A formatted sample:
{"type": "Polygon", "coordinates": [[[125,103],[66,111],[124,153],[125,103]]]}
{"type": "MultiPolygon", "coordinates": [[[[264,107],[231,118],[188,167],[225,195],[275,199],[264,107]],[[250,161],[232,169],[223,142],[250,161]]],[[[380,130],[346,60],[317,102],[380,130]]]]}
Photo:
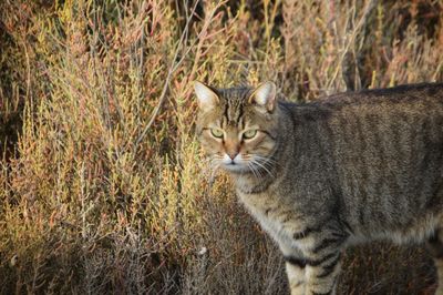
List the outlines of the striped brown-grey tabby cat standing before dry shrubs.
{"type": "Polygon", "coordinates": [[[277,242],[296,294],[336,294],[341,253],[374,240],[425,242],[443,294],[443,83],[309,103],[276,85],[196,81],[196,134],[277,242]]]}

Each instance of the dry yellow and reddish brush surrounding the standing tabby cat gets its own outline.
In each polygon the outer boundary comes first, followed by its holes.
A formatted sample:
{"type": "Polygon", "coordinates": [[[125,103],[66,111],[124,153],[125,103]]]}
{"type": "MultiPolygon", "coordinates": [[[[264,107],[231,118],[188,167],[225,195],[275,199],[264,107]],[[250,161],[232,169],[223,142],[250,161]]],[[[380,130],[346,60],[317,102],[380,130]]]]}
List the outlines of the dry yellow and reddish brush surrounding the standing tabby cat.
{"type": "MultiPolygon", "coordinates": [[[[1,1],[0,293],[286,292],[278,251],[207,171],[192,81],[271,79],[298,101],[442,81],[442,16],[431,0],[1,1]]],[[[430,265],[351,250],[341,289],[431,294],[430,265]]]]}

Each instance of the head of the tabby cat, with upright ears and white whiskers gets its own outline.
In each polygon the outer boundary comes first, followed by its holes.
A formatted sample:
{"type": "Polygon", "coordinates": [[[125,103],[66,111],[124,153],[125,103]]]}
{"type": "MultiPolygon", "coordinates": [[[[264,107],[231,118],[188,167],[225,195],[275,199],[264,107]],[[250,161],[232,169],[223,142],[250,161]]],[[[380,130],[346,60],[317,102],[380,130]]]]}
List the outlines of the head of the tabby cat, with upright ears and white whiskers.
{"type": "Polygon", "coordinates": [[[215,167],[231,173],[269,172],[277,139],[276,85],[215,89],[195,82],[197,134],[215,167]]]}

